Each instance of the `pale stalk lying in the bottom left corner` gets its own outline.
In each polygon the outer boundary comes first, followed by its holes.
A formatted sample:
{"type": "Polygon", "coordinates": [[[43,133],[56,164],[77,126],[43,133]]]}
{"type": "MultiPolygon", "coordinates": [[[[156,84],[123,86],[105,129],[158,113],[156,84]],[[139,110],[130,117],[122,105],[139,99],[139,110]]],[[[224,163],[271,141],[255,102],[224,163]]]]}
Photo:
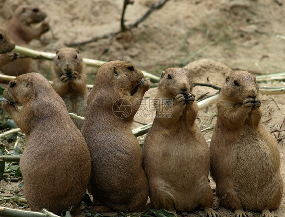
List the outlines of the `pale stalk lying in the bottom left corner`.
{"type": "Polygon", "coordinates": [[[19,209],[10,209],[0,206],[0,216],[3,217],[59,217],[58,215],[42,209],[41,212],[24,211],[19,209]]]}

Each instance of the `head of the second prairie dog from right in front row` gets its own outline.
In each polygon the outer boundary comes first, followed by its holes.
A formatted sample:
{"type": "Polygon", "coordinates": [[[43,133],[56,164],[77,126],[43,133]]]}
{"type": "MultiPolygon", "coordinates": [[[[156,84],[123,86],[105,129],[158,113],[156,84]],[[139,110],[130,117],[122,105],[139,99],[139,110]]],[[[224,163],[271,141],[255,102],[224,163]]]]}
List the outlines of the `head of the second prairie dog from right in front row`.
{"type": "Polygon", "coordinates": [[[189,71],[183,68],[168,68],[160,75],[158,92],[175,98],[178,94],[186,95],[192,92],[193,84],[189,71]]]}

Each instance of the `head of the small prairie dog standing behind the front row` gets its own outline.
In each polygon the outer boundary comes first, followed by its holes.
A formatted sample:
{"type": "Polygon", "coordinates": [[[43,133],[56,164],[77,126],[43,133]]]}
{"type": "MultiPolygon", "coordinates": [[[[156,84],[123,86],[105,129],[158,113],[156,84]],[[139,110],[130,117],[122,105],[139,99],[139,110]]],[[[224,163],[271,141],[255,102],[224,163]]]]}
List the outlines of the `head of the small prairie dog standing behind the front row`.
{"type": "Polygon", "coordinates": [[[83,69],[83,59],[77,49],[61,48],[56,51],[53,67],[59,76],[71,74],[73,71],[80,73],[83,69]]]}

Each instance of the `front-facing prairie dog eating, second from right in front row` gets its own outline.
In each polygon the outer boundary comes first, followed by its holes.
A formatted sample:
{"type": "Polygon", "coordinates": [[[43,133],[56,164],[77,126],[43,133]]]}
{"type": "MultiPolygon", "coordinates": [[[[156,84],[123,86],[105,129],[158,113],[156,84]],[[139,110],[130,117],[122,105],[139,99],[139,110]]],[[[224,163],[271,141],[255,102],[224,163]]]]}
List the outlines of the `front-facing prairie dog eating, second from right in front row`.
{"type": "Polygon", "coordinates": [[[157,117],[142,151],[150,199],[155,209],[188,212],[203,206],[206,214],[218,216],[211,208],[210,154],[195,123],[198,106],[192,87],[190,73],[185,69],[168,68],[161,73],[155,96],[157,117]],[[163,99],[172,100],[170,107],[163,99]]]}

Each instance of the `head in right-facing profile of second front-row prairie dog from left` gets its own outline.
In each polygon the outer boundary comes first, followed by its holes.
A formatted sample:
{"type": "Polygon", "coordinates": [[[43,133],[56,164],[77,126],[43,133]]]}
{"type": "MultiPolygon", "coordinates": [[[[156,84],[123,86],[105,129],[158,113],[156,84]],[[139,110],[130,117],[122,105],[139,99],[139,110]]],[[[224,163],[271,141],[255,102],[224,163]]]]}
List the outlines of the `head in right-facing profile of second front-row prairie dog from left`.
{"type": "Polygon", "coordinates": [[[144,74],[133,64],[124,61],[111,61],[97,71],[95,86],[110,85],[116,91],[135,94],[144,81],[144,74]]]}

